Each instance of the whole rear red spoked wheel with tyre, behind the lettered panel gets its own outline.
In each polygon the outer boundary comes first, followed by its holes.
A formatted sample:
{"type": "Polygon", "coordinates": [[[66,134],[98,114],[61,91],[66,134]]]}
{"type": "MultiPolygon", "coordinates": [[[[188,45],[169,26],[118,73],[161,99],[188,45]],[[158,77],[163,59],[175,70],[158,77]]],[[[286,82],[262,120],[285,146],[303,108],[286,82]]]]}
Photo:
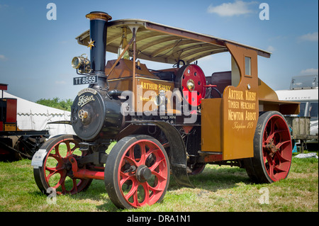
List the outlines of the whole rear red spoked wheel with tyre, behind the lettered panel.
{"type": "Polygon", "coordinates": [[[254,157],[245,160],[247,174],[261,183],[285,179],[291,158],[291,134],[284,116],[276,111],[260,115],[254,134],[254,157]]]}

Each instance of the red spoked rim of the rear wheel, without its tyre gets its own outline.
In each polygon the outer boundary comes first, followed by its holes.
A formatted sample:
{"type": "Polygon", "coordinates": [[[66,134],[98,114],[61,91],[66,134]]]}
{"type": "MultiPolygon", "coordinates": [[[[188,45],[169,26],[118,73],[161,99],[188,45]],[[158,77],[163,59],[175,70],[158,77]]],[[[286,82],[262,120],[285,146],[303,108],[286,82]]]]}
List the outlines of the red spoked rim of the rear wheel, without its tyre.
{"type": "Polygon", "coordinates": [[[262,158],[272,181],[285,179],[291,166],[291,137],[284,118],[273,115],[267,121],[262,137],[262,158]]]}

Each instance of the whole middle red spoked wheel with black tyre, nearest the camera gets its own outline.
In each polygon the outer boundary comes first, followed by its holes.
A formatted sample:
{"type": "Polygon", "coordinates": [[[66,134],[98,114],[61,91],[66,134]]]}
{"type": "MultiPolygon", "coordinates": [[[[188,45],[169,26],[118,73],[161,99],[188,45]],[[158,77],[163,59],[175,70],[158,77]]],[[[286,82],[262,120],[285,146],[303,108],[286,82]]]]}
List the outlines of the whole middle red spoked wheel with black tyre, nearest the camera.
{"type": "Polygon", "coordinates": [[[108,155],[105,184],[118,208],[140,208],[160,202],[169,185],[169,159],[153,137],[131,135],[108,155]]]}

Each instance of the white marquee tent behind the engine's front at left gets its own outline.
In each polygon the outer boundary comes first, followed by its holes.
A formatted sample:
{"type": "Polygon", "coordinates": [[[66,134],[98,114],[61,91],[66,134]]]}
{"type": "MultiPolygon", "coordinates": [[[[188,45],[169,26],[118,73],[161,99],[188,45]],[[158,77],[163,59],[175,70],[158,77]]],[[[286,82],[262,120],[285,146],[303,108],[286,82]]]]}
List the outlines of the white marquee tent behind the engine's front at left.
{"type": "Polygon", "coordinates": [[[75,134],[72,125],[47,124],[70,120],[71,113],[40,105],[4,92],[4,98],[17,99],[17,124],[20,130],[49,130],[50,137],[61,134],[75,134]]]}

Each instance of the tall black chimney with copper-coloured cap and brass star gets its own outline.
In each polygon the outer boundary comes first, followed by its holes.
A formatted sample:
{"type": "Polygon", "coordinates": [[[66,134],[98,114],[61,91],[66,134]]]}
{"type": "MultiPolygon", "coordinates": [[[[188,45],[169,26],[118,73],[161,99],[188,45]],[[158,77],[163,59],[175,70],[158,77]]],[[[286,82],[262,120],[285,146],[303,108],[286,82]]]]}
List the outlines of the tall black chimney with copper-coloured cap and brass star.
{"type": "MultiPolygon", "coordinates": [[[[105,76],[106,63],[106,23],[112,19],[108,13],[93,11],[86,15],[90,20],[90,61],[92,72],[99,76],[105,76]]],[[[100,79],[99,79],[100,80],[100,79]]],[[[105,79],[106,80],[106,77],[105,79]]],[[[105,82],[103,82],[105,83],[105,82]]],[[[103,84],[98,84],[102,86],[103,84]]]]}

